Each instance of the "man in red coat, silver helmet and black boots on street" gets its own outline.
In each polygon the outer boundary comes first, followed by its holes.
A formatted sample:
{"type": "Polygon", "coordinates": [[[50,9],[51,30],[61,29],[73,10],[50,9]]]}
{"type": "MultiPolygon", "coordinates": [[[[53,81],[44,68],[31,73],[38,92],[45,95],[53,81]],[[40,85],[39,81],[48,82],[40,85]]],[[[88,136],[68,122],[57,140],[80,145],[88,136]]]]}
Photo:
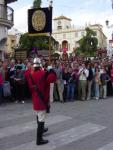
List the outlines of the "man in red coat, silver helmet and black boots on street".
{"type": "Polygon", "coordinates": [[[42,135],[47,109],[49,108],[50,83],[56,81],[56,73],[52,69],[49,71],[43,70],[39,58],[34,59],[33,68],[34,70],[29,73],[29,79],[27,80],[32,93],[33,109],[36,112],[38,123],[36,144],[42,145],[48,143],[48,140],[44,140],[42,135]]]}

